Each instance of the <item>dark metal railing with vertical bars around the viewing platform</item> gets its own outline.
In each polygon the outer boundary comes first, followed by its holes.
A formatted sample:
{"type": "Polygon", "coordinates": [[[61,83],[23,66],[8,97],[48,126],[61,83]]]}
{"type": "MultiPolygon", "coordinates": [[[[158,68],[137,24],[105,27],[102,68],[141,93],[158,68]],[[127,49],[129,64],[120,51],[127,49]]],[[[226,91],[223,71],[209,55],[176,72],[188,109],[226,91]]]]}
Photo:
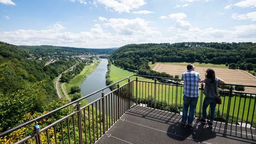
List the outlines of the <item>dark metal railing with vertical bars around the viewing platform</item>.
{"type": "MultiPolygon", "coordinates": [[[[92,94],[84,96],[74,102],[53,110],[47,114],[30,120],[20,126],[16,126],[6,132],[0,134],[0,138],[10,138],[12,132],[34,126],[34,123],[55,114],[56,112],[76,104],[76,111],[67,116],[56,120],[52,124],[38,129],[35,126],[35,131],[29,136],[22,139],[16,139],[16,143],[68,143],[82,144],[94,143],[128,110],[133,104],[141,105],[148,108],[174,112],[181,114],[183,100],[182,90],[183,85],[179,79],[162,78],[142,75],[132,75],[124,78],[110,86],[102,88],[92,94]],[[136,76],[136,78],[134,78],[136,76]],[[130,78],[134,80],[130,80],[130,78]],[[139,78],[151,78],[150,81],[139,80],[139,78]],[[157,79],[176,81],[174,84],[157,82],[157,79]],[[120,82],[125,82],[119,86],[120,82]],[[117,85],[117,88],[107,94],[104,93],[106,88],[117,85]],[[86,106],[81,107],[81,100],[101,93],[101,97],[86,106]]],[[[256,88],[256,86],[229,84],[229,90],[218,90],[221,95],[222,104],[216,106],[215,120],[225,124],[240,125],[245,124],[245,127],[255,128],[256,112],[255,112],[255,93],[233,91],[232,86],[246,86],[256,88]]],[[[196,108],[196,117],[202,114],[203,84],[200,88],[200,96],[196,108]]]]}

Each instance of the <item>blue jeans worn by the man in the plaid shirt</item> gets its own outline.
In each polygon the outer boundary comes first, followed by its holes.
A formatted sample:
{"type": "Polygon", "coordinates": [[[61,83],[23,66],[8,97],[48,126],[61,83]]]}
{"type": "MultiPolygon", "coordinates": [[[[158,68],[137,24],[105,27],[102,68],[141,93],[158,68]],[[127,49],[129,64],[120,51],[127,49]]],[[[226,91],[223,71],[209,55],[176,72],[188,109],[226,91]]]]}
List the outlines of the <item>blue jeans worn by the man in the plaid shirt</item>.
{"type": "Polygon", "coordinates": [[[185,95],[183,96],[182,122],[184,124],[186,124],[187,120],[189,125],[193,123],[197,100],[198,97],[190,98],[185,95]]]}

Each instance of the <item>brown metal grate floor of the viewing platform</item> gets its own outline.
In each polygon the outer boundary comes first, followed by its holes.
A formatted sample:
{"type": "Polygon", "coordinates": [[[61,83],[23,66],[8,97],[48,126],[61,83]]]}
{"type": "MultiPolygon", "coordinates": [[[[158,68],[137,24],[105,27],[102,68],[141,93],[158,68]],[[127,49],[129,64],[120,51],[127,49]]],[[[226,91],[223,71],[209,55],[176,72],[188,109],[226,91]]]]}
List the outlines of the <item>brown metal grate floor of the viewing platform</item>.
{"type": "Polygon", "coordinates": [[[219,122],[211,128],[196,120],[184,127],[180,119],[179,114],[134,105],[96,144],[256,143],[255,129],[219,122]]]}

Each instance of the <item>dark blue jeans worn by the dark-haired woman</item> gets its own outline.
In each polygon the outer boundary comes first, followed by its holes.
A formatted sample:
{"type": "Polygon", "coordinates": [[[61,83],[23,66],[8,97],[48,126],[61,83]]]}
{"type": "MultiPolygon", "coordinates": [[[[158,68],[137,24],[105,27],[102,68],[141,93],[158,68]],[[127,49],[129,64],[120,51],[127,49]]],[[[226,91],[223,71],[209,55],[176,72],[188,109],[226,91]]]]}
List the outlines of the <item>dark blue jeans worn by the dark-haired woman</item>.
{"type": "Polygon", "coordinates": [[[209,106],[209,104],[211,110],[210,122],[213,122],[215,117],[216,98],[204,98],[202,107],[202,114],[204,119],[206,119],[206,108],[209,106]]]}

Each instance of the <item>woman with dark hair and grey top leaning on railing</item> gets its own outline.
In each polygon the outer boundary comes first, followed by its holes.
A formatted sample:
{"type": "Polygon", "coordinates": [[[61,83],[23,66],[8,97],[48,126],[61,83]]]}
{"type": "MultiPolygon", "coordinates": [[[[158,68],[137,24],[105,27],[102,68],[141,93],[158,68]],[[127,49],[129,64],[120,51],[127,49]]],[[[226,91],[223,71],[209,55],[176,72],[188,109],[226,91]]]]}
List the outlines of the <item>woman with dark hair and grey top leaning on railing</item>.
{"type": "Polygon", "coordinates": [[[206,124],[207,122],[209,126],[212,127],[214,116],[215,116],[216,98],[218,96],[217,94],[218,84],[224,84],[225,82],[224,80],[216,77],[214,70],[211,68],[208,68],[206,70],[205,79],[201,80],[200,82],[205,83],[205,87],[204,87],[205,98],[202,106],[203,118],[197,118],[197,120],[204,124],[206,124]],[[210,104],[211,116],[210,116],[210,120],[206,121],[206,109],[209,106],[209,104],[210,104]]]}

